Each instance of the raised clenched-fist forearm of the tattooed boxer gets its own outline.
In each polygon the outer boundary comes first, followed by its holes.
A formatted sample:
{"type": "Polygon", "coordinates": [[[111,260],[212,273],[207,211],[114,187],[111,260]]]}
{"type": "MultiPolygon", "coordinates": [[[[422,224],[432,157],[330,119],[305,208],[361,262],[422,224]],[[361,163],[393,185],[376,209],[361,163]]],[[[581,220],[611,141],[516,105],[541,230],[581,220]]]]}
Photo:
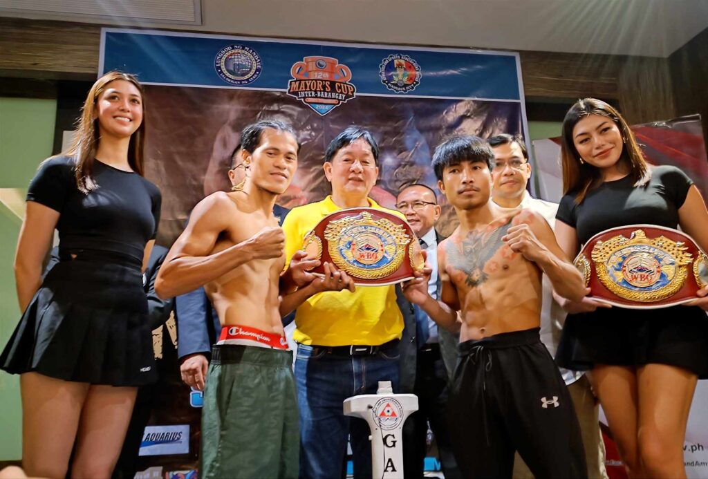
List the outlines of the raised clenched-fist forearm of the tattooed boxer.
{"type": "Polygon", "coordinates": [[[583,276],[568,260],[553,230],[539,214],[530,210],[520,212],[502,241],[515,253],[535,262],[560,296],[571,301],[581,301],[586,296],[583,276]]]}

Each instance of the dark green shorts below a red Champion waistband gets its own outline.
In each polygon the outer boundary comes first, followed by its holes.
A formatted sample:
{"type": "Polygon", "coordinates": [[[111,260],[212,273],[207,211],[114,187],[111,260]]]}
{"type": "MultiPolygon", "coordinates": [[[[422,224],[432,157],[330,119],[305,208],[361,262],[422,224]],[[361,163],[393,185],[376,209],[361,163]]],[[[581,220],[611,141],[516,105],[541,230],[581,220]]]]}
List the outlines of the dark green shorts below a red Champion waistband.
{"type": "Polygon", "coordinates": [[[297,478],[292,351],[215,345],[201,439],[201,478],[297,478]]]}

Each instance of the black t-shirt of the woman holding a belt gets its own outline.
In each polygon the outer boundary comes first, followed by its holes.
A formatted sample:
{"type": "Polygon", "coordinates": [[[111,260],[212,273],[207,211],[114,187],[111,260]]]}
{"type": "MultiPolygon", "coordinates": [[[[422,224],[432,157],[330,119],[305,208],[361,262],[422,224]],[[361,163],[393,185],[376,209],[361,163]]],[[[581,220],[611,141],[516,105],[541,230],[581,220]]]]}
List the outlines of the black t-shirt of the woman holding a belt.
{"type": "Polygon", "coordinates": [[[577,192],[561,198],[556,219],[572,226],[581,244],[606,229],[628,224],[655,224],[675,229],[678,209],[693,184],[675,166],[654,166],[651,180],[635,187],[631,176],[605,181],[590,190],[581,204],[576,204],[577,192]]]}

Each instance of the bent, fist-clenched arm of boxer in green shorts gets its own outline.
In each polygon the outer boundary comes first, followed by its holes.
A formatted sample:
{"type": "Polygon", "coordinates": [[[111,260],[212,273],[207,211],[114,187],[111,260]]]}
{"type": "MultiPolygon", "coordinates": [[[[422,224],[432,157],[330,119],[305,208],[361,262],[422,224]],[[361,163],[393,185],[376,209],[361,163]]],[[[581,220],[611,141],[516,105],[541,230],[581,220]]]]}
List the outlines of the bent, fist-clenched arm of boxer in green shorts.
{"type": "Polygon", "coordinates": [[[183,233],[170,248],[157,277],[159,296],[177,296],[197,289],[250,260],[278,258],[285,246],[279,227],[267,227],[246,241],[218,253],[212,250],[219,234],[227,229],[225,214],[233,207],[226,193],[206,197],[194,208],[183,233]]]}

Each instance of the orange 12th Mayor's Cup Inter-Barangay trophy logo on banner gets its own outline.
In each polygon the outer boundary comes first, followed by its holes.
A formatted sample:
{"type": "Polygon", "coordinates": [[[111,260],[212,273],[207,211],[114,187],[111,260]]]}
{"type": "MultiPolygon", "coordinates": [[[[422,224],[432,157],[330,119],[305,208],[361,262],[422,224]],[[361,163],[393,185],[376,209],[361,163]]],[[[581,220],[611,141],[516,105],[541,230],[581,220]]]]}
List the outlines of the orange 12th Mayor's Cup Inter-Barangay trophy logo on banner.
{"type": "Polygon", "coordinates": [[[287,94],[319,115],[326,115],[356,96],[356,87],[349,82],[351,70],[336,58],[304,57],[292,65],[290,74],[293,79],[287,83],[287,94]]]}

